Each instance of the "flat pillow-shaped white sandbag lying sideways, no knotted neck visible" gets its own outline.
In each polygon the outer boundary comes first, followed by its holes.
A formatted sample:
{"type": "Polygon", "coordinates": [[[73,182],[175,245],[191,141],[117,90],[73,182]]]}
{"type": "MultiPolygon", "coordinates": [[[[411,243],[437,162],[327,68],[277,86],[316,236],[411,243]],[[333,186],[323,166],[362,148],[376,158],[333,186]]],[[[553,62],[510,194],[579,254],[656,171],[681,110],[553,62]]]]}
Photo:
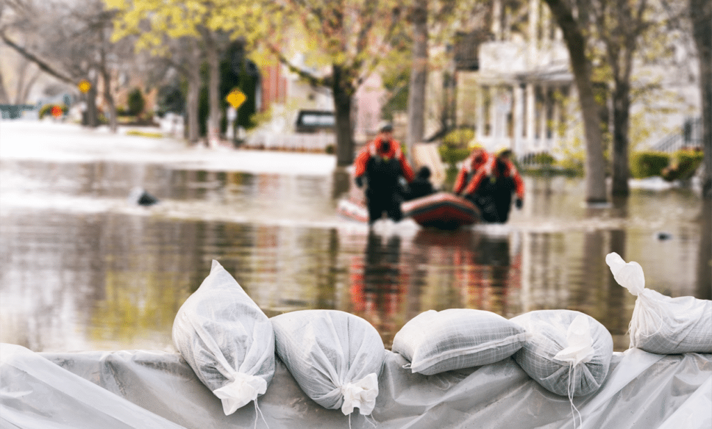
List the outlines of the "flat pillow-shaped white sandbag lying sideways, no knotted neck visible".
{"type": "Polygon", "coordinates": [[[517,352],[526,341],[523,327],[485,310],[428,310],[409,320],[393,338],[412,372],[432,375],[493,364],[517,352]]]}

